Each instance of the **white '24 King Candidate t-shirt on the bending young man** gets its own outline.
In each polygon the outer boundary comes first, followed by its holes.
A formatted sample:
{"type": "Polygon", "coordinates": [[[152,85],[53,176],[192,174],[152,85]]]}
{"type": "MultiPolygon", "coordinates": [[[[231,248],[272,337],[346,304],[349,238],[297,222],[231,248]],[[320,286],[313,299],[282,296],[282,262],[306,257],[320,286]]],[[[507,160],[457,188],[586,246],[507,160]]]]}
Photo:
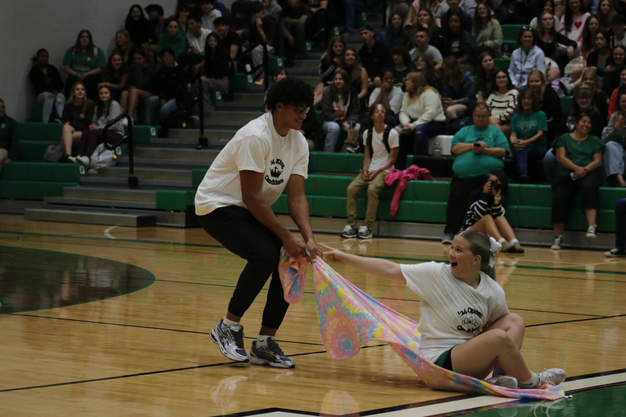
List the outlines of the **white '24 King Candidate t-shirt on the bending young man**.
{"type": "Polygon", "coordinates": [[[261,194],[275,203],[291,174],[307,178],[309,146],[299,131],[279,136],[272,113],[265,113],[239,129],[208,169],[195,195],[198,216],[225,206],[244,207],[239,171],[263,173],[261,194]]]}

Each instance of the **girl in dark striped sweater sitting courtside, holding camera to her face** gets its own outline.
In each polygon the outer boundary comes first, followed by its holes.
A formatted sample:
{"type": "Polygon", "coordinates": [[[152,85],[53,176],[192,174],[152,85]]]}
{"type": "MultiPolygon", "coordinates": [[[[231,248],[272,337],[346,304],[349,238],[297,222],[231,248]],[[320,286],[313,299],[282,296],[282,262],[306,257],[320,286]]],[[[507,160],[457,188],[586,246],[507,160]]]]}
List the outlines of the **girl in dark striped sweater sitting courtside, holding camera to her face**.
{"type": "Polygon", "coordinates": [[[459,233],[478,230],[496,239],[502,245],[503,252],[524,253],[525,250],[505,217],[508,202],[506,196],[502,194],[500,179],[493,173],[486,173],[481,180],[482,188],[475,189],[469,194],[465,224],[459,233]]]}

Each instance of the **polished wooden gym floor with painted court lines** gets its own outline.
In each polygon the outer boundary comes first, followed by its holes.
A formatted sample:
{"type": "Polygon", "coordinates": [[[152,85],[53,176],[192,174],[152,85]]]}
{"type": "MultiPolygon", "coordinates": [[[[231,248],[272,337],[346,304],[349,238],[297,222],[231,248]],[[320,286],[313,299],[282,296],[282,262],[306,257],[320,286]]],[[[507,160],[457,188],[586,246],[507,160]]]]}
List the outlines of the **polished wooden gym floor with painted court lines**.
{"type": "MultiPolygon", "coordinates": [[[[317,241],[404,263],[446,259],[433,241],[317,241]]],[[[0,215],[0,415],[626,415],[626,261],[528,248],[496,263],[509,308],[526,319],[526,361],[536,371],[565,368],[573,398],[525,403],[433,391],[379,343],[334,361],[310,281],[277,335],[296,367],[234,364],[208,334],[244,261],[202,229],[0,215]]],[[[418,296],[404,285],[336,269],[419,319],[418,296]]],[[[247,348],[263,306],[261,293],[242,321],[247,348]]]]}

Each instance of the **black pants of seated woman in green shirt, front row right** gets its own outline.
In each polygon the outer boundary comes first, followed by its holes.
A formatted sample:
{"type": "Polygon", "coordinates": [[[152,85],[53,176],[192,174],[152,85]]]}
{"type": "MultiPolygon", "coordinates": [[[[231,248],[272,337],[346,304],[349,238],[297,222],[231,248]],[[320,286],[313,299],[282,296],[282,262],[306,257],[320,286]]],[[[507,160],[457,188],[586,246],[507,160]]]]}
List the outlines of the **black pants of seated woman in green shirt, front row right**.
{"type": "Polygon", "coordinates": [[[568,224],[574,193],[580,191],[583,209],[598,209],[598,189],[602,179],[595,173],[588,173],[574,181],[570,176],[555,176],[552,180],[552,224],[568,224]]]}

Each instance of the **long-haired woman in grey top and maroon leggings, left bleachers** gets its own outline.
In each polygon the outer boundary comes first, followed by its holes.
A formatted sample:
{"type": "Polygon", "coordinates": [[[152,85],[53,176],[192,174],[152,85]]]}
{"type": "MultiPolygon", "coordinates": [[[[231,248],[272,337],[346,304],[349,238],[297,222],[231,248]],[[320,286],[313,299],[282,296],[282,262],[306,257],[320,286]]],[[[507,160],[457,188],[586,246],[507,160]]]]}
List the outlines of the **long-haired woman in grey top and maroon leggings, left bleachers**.
{"type": "Polygon", "coordinates": [[[96,99],[96,111],[91,119],[89,128],[83,131],[80,139],[80,147],[78,156],[74,158],[69,156],[68,160],[73,163],[82,163],[89,165],[91,154],[96,150],[99,144],[106,141],[107,143],[118,143],[124,136],[124,126],[121,119],[106,131],[104,137],[104,129],[106,125],[122,114],[120,103],[113,100],[111,89],[107,86],[98,87],[98,99],[96,99]]]}

